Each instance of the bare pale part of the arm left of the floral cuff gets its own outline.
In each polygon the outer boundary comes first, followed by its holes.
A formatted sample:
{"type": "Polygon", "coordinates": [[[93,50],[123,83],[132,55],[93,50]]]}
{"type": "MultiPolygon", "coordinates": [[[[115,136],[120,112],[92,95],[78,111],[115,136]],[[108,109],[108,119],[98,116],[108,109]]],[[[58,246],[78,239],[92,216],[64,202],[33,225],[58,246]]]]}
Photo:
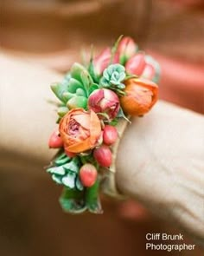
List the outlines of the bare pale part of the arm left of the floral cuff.
{"type": "Polygon", "coordinates": [[[48,138],[54,130],[56,102],[49,89],[61,75],[40,65],[0,56],[1,167],[32,168],[48,163],[54,150],[48,138]]]}

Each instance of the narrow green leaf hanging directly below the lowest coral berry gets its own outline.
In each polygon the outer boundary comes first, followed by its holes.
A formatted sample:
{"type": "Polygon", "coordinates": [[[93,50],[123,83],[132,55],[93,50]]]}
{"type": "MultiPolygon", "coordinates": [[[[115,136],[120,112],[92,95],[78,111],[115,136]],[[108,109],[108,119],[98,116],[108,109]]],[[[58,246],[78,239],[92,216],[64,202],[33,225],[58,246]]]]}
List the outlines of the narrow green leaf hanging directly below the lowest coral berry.
{"type": "Polygon", "coordinates": [[[99,200],[99,181],[86,188],[86,207],[91,213],[103,213],[99,200]]]}

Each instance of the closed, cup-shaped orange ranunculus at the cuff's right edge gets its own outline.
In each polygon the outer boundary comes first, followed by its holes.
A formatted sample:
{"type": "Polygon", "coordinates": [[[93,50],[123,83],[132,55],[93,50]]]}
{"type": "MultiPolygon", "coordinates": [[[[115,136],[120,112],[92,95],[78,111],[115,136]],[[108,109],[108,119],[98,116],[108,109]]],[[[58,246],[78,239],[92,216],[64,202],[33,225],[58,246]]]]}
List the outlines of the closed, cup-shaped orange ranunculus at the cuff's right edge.
{"type": "Polygon", "coordinates": [[[128,115],[144,115],[156,103],[158,86],[143,78],[130,78],[125,82],[126,95],[120,98],[121,107],[128,115]]]}

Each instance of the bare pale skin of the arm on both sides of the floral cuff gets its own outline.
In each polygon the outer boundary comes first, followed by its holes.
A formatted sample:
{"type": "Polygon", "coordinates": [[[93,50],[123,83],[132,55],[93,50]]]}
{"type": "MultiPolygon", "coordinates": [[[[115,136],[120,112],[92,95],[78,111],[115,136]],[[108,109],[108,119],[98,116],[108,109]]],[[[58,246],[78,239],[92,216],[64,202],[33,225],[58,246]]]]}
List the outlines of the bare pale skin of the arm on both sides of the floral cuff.
{"type": "MultiPolygon", "coordinates": [[[[61,75],[0,56],[1,168],[38,169],[48,163],[55,100],[49,89],[61,75]],[[16,157],[16,161],[12,161],[16,157]]],[[[168,102],[133,118],[121,140],[118,190],[179,225],[204,244],[204,118],[168,102]]]]}

